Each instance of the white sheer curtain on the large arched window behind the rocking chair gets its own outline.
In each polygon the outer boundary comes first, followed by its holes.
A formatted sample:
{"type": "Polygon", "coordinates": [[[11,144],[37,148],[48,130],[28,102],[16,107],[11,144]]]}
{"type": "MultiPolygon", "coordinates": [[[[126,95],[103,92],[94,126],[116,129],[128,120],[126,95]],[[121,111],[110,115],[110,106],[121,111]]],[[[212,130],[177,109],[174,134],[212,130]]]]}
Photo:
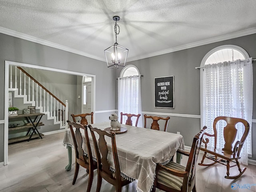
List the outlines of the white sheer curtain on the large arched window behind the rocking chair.
{"type": "MultiPolygon", "coordinates": [[[[252,153],[252,58],[205,65],[203,72],[203,125],[213,134],[213,121],[217,116],[243,118],[250,124],[250,132],[242,148],[242,163],[248,164],[248,153],[252,153]]],[[[226,123],[217,123],[219,133],[217,148],[224,147],[223,128],[226,123]],[[220,130],[221,129],[221,130],[220,130]]],[[[243,133],[242,124],[237,124],[237,138],[243,133]]],[[[214,139],[210,139],[214,146],[214,139]]]]}

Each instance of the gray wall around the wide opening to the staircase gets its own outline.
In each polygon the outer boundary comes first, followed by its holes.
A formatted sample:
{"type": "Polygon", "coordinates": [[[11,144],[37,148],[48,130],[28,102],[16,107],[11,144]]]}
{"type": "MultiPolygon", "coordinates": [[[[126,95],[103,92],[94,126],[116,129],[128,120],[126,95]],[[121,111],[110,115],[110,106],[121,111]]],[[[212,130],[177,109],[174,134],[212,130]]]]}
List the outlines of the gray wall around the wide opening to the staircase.
{"type": "MultiPolygon", "coordinates": [[[[106,67],[105,62],[73,54],[56,48],[20,38],[0,34],[0,120],[4,119],[4,61],[44,66],[96,75],[95,110],[113,110],[115,108],[115,70],[106,67]]],[[[100,50],[99,50],[100,51],[100,50]]],[[[103,54],[103,51],[102,51],[103,54]]],[[[97,118],[97,116],[96,116],[97,118]]],[[[108,114],[105,114],[108,118],[108,114]]],[[[100,120],[97,120],[98,122],[100,120]]],[[[0,135],[4,135],[2,124],[0,135]]],[[[3,162],[4,140],[0,139],[0,162],[3,162]]]]}

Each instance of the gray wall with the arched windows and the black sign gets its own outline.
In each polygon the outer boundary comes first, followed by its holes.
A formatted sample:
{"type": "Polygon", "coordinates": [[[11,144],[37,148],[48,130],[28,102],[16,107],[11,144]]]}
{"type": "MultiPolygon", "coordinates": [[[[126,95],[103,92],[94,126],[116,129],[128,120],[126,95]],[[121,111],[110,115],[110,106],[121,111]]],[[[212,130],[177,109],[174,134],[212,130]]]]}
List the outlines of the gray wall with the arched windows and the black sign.
{"type": "MultiPolygon", "coordinates": [[[[250,57],[256,58],[256,34],[252,34],[128,62],[127,65],[135,65],[140,74],[144,75],[141,77],[142,111],[200,115],[200,71],[195,67],[200,66],[202,59],[210,50],[227,44],[240,46],[248,52],[250,57]],[[154,108],[154,77],[163,76],[174,76],[174,109],[154,108]]],[[[254,85],[256,84],[255,63],[254,61],[254,85]]],[[[120,71],[116,71],[116,78],[120,76],[120,71]]],[[[256,119],[256,86],[254,86],[253,95],[253,119],[256,119]]],[[[143,116],[142,118],[144,119],[143,116]]],[[[256,124],[253,123],[251,128],[252,159],[256,160],[256,124]]],[[[184,137],[185,145],[191,146],[192,136],[197,134],[200,129],[199,118],[171,116],[167,131],[174,133],[179,131],[184,137]]]]}

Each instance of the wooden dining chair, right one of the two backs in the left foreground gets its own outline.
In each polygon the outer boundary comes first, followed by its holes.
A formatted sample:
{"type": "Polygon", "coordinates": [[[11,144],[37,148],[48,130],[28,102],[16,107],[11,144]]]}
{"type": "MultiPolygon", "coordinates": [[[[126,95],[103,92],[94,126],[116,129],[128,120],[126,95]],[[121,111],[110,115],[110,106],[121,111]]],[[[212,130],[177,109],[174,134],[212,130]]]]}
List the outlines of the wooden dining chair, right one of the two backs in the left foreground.
{"type": "Polygon", "coordinates": [[[90,128],[92,134],[98,166],[98,182],[96,192],[100,192],[102,178],[104,178],[110,184],[114,185],[116,187],[116,192],[121,192],[122,186],[125,186],[131,183],[132,181],[129,181],[121,176],[118,154],[116,149],[116,134],[114,132],[109,133],[106,131],[102,131],[98,128],[93,128],[91,125],[88,125],[88,127],[90,128]],[[98,142],[96,140],[94,132],[96,132],[99,135],[98,142]],[[108,162],[108,146],[105,140],[105,136],[111,138],[115,172],[110,170],[110,164],[108,162]]]}

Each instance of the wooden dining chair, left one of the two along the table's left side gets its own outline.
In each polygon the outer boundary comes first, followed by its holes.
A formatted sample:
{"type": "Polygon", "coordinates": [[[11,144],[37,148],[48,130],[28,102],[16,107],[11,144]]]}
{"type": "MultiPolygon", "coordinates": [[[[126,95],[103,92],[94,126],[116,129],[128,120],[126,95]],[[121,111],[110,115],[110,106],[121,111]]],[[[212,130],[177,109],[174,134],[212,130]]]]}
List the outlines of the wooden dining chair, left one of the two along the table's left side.
{"type": "Polygon", "coordinates": [[[70,132],[72,134],[73,144],[75,148],[75,155],[76,155],[76,168],[75,168],[75,174],[73,178],[72,184],[74,185],[76,183],[76,178],[78,176],[79,167],[82,166],[86,168],[86,172],[89,174],[88,179],[88,186],[87,186],[87,192],[90,192],[92,188],[92,180],[93,180],[93,171],[97,169],[97,163],[92,160],[92,150],[90,147],[88,132],[87,132],[87,125],[82,125],[80,123],[76,122],[70,122],[70,120],[67,121],[70,132]],[[73,126],[76,128],[76,131],[74,133],[73,126]],[[82,134],[80,132],[80,129],[84,130],[84,135],[86,141],[83,141],[82,134]],[[82,143],[86,143],[87,148],[87,154],[88,156],[84,155],[84,150],[82,148],[82,143]]]}

